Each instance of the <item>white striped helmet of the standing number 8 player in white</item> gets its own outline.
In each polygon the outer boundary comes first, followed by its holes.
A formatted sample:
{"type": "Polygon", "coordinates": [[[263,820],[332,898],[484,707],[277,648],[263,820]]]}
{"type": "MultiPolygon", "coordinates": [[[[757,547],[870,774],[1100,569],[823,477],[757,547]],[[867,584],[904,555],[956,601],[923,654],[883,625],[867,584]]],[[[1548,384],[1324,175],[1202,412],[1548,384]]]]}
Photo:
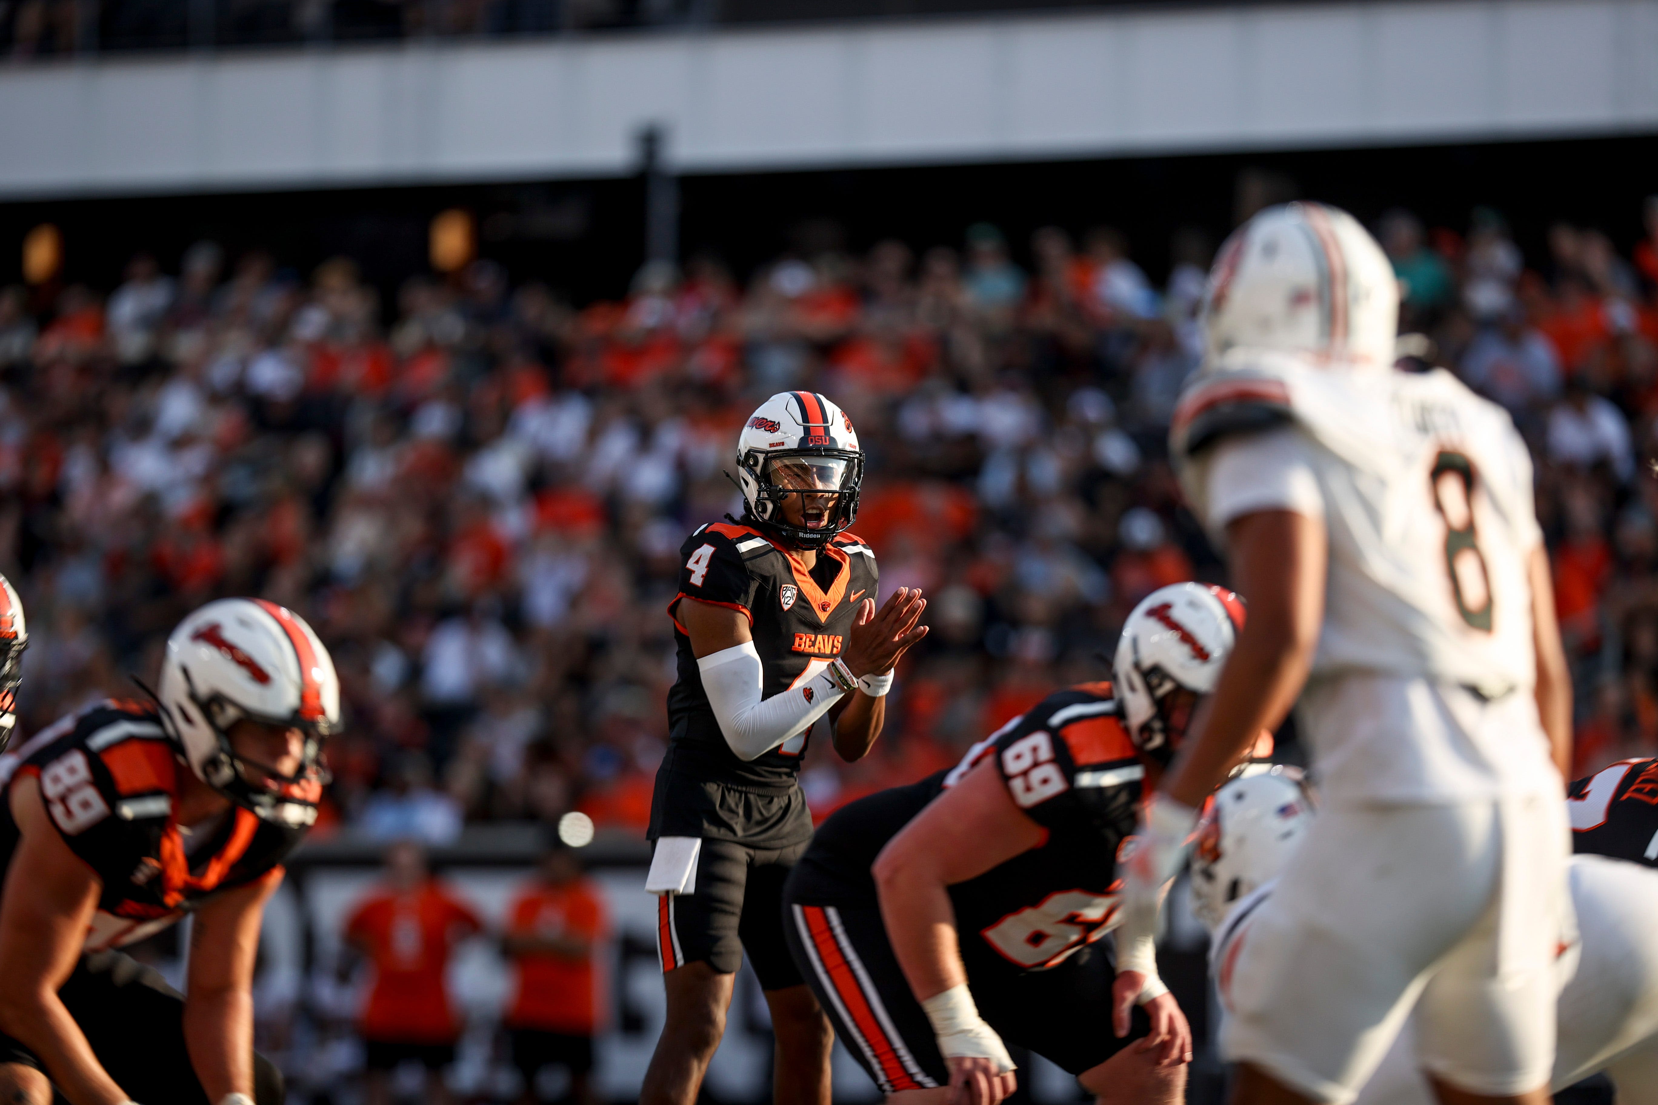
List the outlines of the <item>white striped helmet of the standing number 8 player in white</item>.
{"type": "Polygon", "coordinates": [[[1389,368],[1398,328],[1393,263],[1340,207],[1268,207],[1232,232],[1209,270],[1210,359],[1248,348],[1389,368]]]}

